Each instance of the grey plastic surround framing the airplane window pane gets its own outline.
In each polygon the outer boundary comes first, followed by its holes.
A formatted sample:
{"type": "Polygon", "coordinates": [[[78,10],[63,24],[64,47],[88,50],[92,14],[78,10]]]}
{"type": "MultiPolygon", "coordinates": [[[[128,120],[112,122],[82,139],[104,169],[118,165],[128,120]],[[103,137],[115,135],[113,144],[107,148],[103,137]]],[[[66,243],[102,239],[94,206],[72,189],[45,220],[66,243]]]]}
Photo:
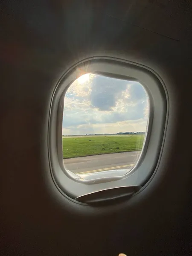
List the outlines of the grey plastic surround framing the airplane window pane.
{"type": "Polygon", "coordinates": [[[58,189],[70,198],[77,198],[100,190],[122,186],[143,186],[151,177],[163,148],[167,117],[167,97],[163,84],[157,76],[141,65],[114,58],[92,58],[82,61],[68,70],[58,82],[52,96],[48,128],[49,164],[53,181],[58,189]],[[148,127],[140,159],[133,169],[124,176],[103,178],[102,180],[75,180],[63,165],[62,119],[64,96],[70,86],[84,73],[100,74],[108,77],[139,81],[148,94],[148,127]]]}

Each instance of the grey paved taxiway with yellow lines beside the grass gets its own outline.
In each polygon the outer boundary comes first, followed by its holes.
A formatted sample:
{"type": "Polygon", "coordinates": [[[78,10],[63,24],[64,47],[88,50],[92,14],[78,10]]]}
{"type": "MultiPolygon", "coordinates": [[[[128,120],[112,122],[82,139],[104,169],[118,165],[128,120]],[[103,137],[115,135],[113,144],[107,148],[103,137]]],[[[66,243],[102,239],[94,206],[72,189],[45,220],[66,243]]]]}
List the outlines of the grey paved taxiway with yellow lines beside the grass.
{"type": "Polygon", "coordinates": [[[64,159],[64,166],[73,173],[105,171],[113,169],[132,169],[140,157],[141,151],[115,154],[102,154],[88,157],[64,159]]]}

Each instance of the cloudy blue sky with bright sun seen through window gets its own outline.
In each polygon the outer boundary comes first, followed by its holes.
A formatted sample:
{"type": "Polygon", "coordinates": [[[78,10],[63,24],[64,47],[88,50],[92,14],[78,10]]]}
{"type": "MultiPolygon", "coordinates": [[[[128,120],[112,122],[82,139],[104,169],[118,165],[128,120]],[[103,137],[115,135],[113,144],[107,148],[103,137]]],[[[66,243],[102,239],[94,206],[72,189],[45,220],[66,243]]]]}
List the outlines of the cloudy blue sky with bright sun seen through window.
{"type": "Polygon", "coordinates": [[[135,81],[80,76],[64,97],[63,135],[145,131],[148,97],[135,81]]]}

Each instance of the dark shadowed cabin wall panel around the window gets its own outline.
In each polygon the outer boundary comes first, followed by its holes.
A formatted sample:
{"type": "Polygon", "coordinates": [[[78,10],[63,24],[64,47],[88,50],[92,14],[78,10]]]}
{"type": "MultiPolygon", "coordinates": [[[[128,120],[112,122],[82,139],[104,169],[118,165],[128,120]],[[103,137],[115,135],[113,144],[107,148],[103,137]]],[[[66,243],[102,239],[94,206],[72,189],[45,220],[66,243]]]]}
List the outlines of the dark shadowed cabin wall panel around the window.
{"type": "Polygon", "coordinates": [[[10,0],[0,6],[0,254],[189,253],[191,2],[10,0]],[[73,65],[94,56],[154,70],[169,96],[156,172],[127,200],[99,206],[63,195],[48,157],[55,87],[73,65]]]}

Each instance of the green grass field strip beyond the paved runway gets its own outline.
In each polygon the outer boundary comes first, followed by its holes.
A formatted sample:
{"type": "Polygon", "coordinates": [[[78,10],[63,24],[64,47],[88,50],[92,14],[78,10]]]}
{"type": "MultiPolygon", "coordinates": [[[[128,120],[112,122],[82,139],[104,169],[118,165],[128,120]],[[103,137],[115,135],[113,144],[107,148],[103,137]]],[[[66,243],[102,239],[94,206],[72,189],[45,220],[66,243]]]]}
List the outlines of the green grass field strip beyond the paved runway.
{"type": "Polygon", "coordinates": [[[144,135],[63,137],[63,157],[84,157],[141,150],[144,135]]]}

